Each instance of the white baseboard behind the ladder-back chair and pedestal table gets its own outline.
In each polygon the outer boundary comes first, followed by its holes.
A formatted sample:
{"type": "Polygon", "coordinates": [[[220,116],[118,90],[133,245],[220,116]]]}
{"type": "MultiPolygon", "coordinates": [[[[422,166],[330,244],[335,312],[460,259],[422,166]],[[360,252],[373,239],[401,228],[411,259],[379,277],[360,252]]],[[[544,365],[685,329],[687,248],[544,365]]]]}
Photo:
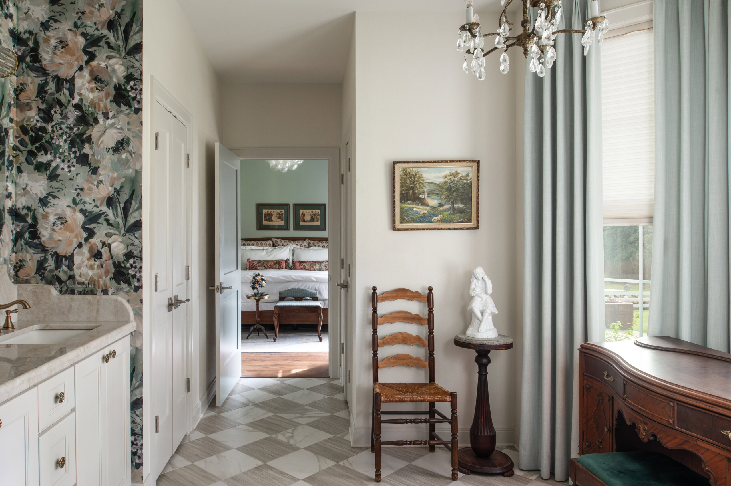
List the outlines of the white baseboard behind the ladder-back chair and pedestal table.
{"type": "MultiPolygon", "coordinates": [[[[350,423],[353,423],[352,414],[350,423]]],[[[497,444],[496,447],[513,447],[515,446],[515,427],[496,427],[497,444]]],[[[383,441],[417,441],[423,440],[428,428],[425,425],[384,425],[382,440],[383,441]]],[[[436,427],[436,433],[440,437],[446,439],[451,436],[450,429],[442,426],[436,427]]],[[[459,428],[457,440],[460,444],[469,444],[469,428],[459,428]]],[[[350,427],[350,444],[352,447],[371,447],[371,428],[370,427],[350,427]]]]}

